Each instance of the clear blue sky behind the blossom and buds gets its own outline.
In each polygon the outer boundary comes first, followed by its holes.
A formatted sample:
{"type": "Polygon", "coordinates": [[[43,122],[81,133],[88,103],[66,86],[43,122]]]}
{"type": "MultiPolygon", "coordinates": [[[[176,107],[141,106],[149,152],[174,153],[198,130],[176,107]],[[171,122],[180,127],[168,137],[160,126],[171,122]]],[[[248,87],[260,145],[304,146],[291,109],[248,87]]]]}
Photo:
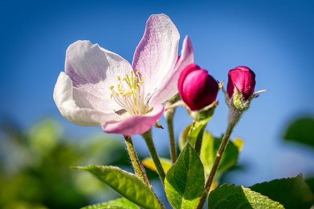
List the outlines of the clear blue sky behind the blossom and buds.
{"type": "MultiPolygon", "coordinates": [[[[256,90],[269,89],[254,100],[235,128],[245,139],[240,163],[245,172],[229,176],[250,186],[275,178],[314,174],[313,149],[285,144],[282,132],[294,116],[314,116],[314,5],[311,0],[208,1],[6,1],[0,7],[0,117],[14,118],[24,128],[45,116],[67,133],[87,136],[100,127],[80,127],[58,112],[52,92],[64,70],[67,47],[90,40],[129,62],[151,14],[164,13],[181,34],[180,50],[189,35],[195,62],[217,80],[239,65],[256,73],[256,90]]],[[[226,84],[225,84],[226,87],[226,84]]],[[[220,136],[228,109],[222,93],[208,130],[220,136]]],[[[190,122],[183,108],[175,116],[175,133],[190,122]]],[[[160,123],[166,126],[163,118],[160,123]]],[[[154,130],[157,149],[165,153],[166,130],[154,130]]],[[[122,141],[122,139],[121,139],[122,141]]],[[[147,153],[143,140],[136,149],[147,153]]],[[[147,153],[148,154],[148,153],[147,153]]]]}

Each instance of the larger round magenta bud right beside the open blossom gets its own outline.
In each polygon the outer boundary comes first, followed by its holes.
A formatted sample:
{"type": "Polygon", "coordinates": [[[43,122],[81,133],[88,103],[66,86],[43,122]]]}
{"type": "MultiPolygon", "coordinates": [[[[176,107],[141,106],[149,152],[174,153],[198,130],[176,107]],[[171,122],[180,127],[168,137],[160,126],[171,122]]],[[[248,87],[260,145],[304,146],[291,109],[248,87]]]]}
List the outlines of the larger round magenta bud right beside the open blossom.
{"type": "Polygon", "coordinates": [[[196,64],[187,66],[178,82],[179,94],[185,104],[192,110],[200,110],[216,100],[217,81],[196,64]]]}

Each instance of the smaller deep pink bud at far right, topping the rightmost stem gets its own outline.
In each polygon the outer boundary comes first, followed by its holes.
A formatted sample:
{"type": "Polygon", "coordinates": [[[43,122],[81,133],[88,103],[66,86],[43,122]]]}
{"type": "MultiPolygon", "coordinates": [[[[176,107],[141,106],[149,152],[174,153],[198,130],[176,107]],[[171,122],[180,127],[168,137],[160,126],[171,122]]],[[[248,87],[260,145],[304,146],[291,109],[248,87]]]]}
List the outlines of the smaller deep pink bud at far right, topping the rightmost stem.
{"type": "Polygon", "coordinates": [[[235,92],[235,86],[240,91],[241,97],[247,100],[254,93],[255,73],[244,66],[229,70],[227,93],[230,98],[235,92]]]}

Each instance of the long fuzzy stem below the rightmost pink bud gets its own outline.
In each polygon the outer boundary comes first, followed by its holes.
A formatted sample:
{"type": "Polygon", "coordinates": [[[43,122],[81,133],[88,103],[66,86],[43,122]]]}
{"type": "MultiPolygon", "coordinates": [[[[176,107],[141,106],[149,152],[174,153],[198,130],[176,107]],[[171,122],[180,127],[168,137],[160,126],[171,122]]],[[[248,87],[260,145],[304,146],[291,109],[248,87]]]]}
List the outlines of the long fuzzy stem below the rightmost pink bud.
{"type": "Polygon", "coordinates": [[[216,174],[216,171],[217,171],[218,165],[220,163],[220,160],[222,158],[222,155],[223,155],[223,153],[227,147],[231,133],[232,133],[233,129],[235,128],[235,125],[237,124],[237,122],[240,120],[241,115],[242,115],[242,112],[239,112],[239,111],[235,110],[234,108],[230,108],[229,115],[228,115],[228,126],[226,129],[226,133],[225,133],[224,137],[222,138],[220,147],[219,147],[218,152],[216,154],[214,163],[213,163],[211,171],[209,173],[209,177],[208,177],[207,182],[205,184],[205,188],[204,188],[203,194],[201,196],[199,205],[197,206],[197,209],[203,209],[203,207],[204,207],[204,203],[205,203],[206,198],[209,194],[210,186],[213,182],[213,179],[214,179],[214,176],[216,174]]]}

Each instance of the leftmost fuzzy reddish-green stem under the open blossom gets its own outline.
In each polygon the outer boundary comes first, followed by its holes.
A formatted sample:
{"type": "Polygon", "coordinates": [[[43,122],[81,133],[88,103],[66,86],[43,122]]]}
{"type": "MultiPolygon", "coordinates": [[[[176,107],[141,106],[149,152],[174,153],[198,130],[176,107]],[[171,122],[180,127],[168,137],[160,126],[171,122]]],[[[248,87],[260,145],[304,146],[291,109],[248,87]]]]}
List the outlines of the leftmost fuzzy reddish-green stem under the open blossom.
{"type": "Polygon", "coordinates": [[[134,149],[134,145],[132,142],[132,139],[130,136],[124,136],[124,139],[126,141],[127,144],[127,148],[128,148],[128,152],[129,152],[129,156],[132,162],[132,165],[134,167],[135,170],[135,174],[145,183],[147,184],[149,187],[152,188],[152,185],[149,183],[144,171],[141,168],[141,164],[139,163],[139,160],[137,158],[135,149],[134,149]]]}

